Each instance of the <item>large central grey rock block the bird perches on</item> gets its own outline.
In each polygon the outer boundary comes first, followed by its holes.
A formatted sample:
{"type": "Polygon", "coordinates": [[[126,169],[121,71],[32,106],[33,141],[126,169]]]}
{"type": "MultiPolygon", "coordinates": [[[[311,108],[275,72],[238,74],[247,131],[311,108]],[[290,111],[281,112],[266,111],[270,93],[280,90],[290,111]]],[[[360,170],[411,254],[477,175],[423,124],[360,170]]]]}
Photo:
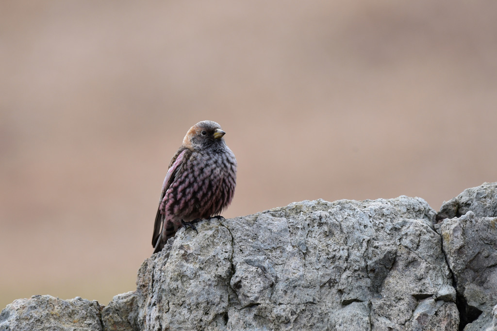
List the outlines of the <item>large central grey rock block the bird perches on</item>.
{"type": "Polygon", "coordinates": [[[204,221],[198,235],[180,230],[142,265],[136,325],[457,330],[455,291],[434,217],[424,200],[402,196],[303,201],[204,221]],[[434,303],[427,312],[418,309],[426,298],[434,303]]]}

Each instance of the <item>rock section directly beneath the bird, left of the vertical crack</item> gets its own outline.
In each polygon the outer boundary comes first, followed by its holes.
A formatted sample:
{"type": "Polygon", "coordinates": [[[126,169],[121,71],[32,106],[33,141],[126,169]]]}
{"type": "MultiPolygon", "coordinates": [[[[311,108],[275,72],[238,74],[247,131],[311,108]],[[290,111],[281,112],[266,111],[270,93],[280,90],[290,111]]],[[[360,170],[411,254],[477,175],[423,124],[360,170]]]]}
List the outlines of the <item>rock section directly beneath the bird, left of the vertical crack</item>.
{"type": "Polygon", "coordinates": [[[180,230],[138,271],[142,330],[226,328],[233,239],[217,219],[197,229],[198,235],[180,230]]]}

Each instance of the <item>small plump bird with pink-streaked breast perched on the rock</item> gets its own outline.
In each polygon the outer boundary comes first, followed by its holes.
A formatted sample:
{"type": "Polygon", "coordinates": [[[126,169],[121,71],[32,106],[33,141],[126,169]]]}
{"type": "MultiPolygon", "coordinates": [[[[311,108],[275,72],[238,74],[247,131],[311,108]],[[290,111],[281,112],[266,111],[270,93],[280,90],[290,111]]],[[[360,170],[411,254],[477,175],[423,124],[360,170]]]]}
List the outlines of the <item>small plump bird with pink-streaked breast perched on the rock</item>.
{"type": "Polygon", "coordinates": [[[233,200],[237,160],[228,148],[221,126],[198,122],[188,130],[171,159],[157,210],[152,246],[154,253],[181,227],[191,227],[219,213],[233,200]]]}

